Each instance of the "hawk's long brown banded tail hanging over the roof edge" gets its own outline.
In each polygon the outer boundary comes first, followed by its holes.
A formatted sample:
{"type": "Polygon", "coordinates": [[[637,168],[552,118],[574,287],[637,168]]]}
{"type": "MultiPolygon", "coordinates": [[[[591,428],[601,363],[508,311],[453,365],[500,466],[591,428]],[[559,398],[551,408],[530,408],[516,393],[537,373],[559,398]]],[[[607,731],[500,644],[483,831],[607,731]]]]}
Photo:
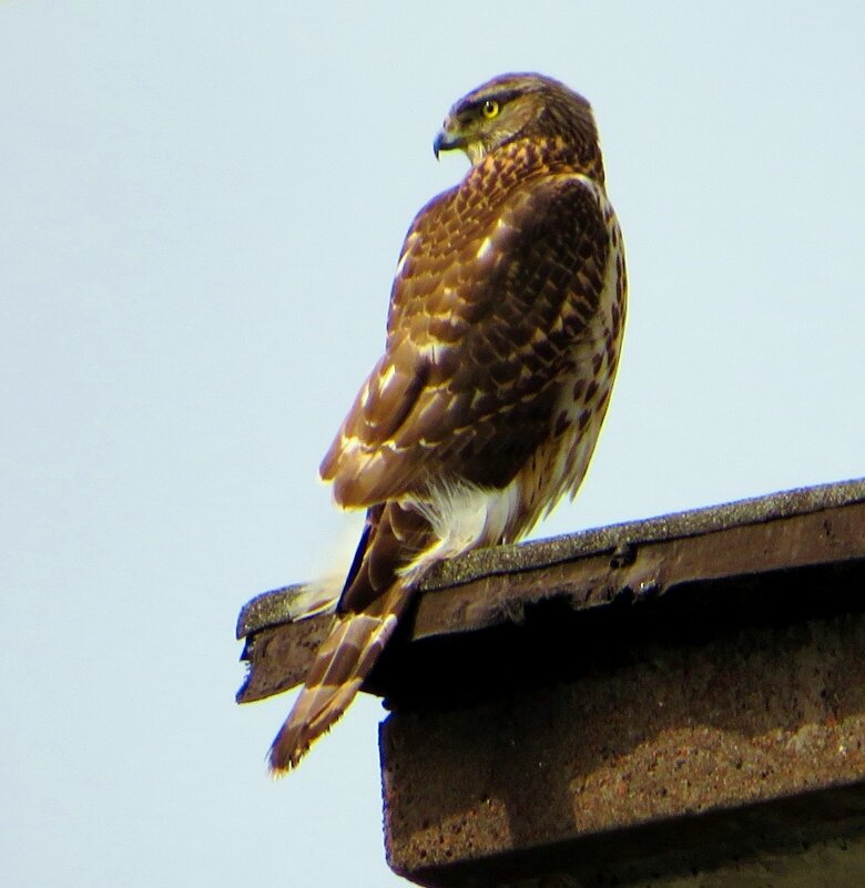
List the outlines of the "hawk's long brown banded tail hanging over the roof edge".
{"type": "Polygon", "coordinates": [[[418,512],[394,502],[369,510],[339,601],[339,619],[322,642],[271,746],[274,774],[297,765],[354,700],[411,601],[413,585],[399,570],[430,541],[429,523],[418,512]]]}

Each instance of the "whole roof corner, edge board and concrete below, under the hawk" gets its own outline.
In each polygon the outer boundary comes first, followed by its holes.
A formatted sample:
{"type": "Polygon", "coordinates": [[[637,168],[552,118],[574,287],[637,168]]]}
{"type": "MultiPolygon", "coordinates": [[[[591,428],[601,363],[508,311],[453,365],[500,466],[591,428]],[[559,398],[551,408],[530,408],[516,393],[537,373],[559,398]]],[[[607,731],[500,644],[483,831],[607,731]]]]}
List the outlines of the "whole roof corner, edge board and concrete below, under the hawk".
{"type": "MultiPolygon", "coordinates": [[[[296,591],[242,612],[241,701],[327,631],[296,591]]],[[[442,565],[365,690],[420,885],[862,888],[865,481],[442,565]]]]}

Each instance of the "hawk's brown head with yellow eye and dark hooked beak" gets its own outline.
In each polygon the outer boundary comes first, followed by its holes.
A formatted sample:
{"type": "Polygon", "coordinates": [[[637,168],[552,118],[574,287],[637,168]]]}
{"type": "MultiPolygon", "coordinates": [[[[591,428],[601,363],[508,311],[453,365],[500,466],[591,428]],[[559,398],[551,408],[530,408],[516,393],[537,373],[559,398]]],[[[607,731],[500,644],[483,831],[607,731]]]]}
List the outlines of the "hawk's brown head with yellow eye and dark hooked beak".
{"type": "Polygon", "coordinates": [[[518,139],[560,136],[580,154],[598,151],[591,106],[563,83],[542,74],[502,74],[465,95],[448,112],[432,143],[460,149],[472,164],[518,139]]]}

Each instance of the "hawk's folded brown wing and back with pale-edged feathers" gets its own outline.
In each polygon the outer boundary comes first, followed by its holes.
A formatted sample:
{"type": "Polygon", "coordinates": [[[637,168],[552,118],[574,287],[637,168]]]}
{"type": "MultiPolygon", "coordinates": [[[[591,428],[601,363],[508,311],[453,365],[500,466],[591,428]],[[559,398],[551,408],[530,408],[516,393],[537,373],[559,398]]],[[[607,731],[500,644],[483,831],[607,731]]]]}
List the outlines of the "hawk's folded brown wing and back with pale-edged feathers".
{"type": "Polygon", "coordinates": [[[602,195],[579,174],[477,171],[406,237],[386,351],[320,467],[342,506],[429,478],[503,487],[550,433],[554,384],[603,288],[602,195]]]}

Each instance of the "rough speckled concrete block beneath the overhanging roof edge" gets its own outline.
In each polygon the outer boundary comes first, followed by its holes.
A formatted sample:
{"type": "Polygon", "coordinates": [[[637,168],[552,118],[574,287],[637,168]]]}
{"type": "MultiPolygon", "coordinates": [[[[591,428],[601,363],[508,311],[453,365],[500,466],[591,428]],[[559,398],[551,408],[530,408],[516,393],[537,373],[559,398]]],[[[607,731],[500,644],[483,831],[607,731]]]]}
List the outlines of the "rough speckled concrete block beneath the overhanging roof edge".
{"type": "MultiPolygon", "coordinates": [[[[675,818],[865,784],[863,676],[865,617],[845,615],[744,630],[695,649],[649,646],[613,674],[469,710],[391,716],[383,731],[391,865],[421,884],[506,885],[478,880],[486,865],[452,878],[441,868],[520,851],[516,869],[542,874],[572,855],[574,878],[627,885],[627,830],[664,821],[657,847],[675,849],[681,835],[701,866],[712,864],[703,845],[732,839],[741,853],[747,841],[735,835],[735,817],[710,820],[705,835],[693,824],[693,835],[680,831],[675,818]]],[[[830,807],[841,820],[859,804],[865,815],[865,792],[854,793],[848,812],[830,807]]],[[[747,828],[772,831],[780,815],[755,810],[747,828]]],[[[825,817],[806,809],[781,819],[800,828],[825,817]]],[[[639,872],[654,849],[638,839],[639,872]]],[[[690,857],[668,860],[668,875],[690,857]]]]}

